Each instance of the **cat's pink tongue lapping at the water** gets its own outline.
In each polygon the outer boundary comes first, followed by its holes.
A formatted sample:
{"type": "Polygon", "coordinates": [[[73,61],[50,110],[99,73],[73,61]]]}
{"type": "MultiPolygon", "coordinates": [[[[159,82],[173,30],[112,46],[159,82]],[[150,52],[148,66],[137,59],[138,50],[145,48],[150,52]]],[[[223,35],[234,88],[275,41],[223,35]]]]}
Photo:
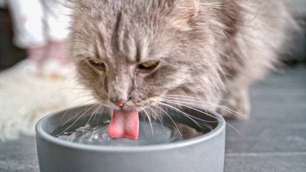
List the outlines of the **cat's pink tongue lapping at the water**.
{"type": "Polygon", "coordinates": [[[136,139],[138,126],[137,110],[113,110],[107,133],[110,138],[136,139]]]}

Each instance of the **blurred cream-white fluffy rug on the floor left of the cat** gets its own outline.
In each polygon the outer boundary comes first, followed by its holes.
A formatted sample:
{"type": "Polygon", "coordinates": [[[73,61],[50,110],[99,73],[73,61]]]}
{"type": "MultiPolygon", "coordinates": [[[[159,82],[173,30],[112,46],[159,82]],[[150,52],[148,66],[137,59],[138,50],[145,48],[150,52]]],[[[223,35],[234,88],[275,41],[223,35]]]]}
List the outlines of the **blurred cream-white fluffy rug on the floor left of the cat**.
{"type": "Polygon", "coordinates": [[[34,135],[34,126],[44,115],[90,99],[86,89],[75,88],[82,87],[74,79],[73,67],[59,67],[54,61],[38,70],[32,61],[23,60],[0,72],[0,140],[34,135]]]}

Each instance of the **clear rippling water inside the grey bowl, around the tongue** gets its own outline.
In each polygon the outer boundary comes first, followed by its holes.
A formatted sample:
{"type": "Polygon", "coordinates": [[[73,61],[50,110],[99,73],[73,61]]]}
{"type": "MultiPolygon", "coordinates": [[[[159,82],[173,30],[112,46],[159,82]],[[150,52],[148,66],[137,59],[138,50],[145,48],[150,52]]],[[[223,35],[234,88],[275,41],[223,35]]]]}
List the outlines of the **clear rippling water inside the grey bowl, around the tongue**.
{"type": "Polygon", "coordinates": [[[82,120],[82,122],[75,123],[73,127],[67,130],[66,128],[69,124],[66,124],[56,128],[51,135],[62,140],[83,144],[141,146],[189,139],[207,133],[212,129],[209,123],[202,122],[200,127],[199,123],[193,125],[193,127],[189,126],[184,123],[184,121],[188,120],[190,119],[185,118],[184,120],[176,121],[175,125],[169,120],[163,121],[163,124],[159,120],[153,120],[151,121],[151,127],[149,121],[145,120],[145,118],[139,118],[139,134],[137,139],[110,138],[107,134],[107,127],[110,120],[105,118],[100,120],[101,122],[99,123],[95,120],[88,123],[86,120],[82,120]],[[58,133],[64,130],[66,131],[58,135],[58,133]]]}

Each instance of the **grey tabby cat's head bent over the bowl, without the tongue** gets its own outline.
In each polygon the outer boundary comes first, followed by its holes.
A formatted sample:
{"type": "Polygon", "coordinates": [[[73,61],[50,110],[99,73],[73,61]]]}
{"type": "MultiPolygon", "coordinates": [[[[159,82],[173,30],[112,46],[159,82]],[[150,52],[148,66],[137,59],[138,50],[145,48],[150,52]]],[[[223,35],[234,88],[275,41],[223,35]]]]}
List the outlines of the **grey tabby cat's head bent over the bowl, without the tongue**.
{"type": "Polygon", "coordinates": [[[197,0],[72,0],[70,54],[104,105],[139,109],[219,84],[214,35],[197,0]]]}

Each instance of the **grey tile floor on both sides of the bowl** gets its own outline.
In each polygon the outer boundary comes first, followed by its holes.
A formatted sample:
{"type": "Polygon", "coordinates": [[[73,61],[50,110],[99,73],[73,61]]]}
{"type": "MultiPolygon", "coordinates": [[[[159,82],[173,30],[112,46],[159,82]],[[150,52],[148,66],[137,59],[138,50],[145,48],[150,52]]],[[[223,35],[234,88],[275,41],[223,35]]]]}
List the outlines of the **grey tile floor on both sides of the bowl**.
{"type": "MultiPolygon", "coordinates": [[[[224,172],[306,171],[306,65],[271,74],[250,94],[250,119],[228,121],[241,135],[226,128],[224,172]]],[[[35,138],[0,142],[0,171],[39,171],[35,138]]]]}

